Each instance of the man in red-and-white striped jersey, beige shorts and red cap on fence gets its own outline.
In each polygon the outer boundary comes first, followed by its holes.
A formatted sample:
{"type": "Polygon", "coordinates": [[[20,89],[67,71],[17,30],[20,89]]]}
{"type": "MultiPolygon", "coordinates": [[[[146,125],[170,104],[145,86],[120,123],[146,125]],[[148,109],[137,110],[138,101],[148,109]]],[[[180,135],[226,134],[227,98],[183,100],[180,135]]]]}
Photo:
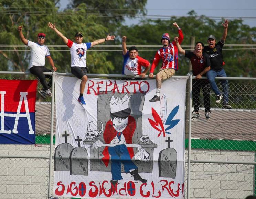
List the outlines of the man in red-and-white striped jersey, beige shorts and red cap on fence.
{"type": "MultiPolygon", "coordinates": [[[[176,22],[173,23],[173,25],[178,28],[179,43],[181,44],[184,38],[182,31],[176,22]]],[[[158,65],[160,59],[162,59],[163,60],[162,66],[156,75],[156,83],[157,83],[156,95],[154,95],[154,97],[151,100],[149,100],[150,102],[160,101],[160,91],[161,91],[162,80],[173,76],[175,74],[175,71],[178,70],[178,49],[175,41],[170,43],[169,34],[164,33],[162,36],[161,42],[163,44],[163,47],[157,51],[150,69],[150,73],[149,73],[149,77],[153,78],[154,69],[158,65]]]]}

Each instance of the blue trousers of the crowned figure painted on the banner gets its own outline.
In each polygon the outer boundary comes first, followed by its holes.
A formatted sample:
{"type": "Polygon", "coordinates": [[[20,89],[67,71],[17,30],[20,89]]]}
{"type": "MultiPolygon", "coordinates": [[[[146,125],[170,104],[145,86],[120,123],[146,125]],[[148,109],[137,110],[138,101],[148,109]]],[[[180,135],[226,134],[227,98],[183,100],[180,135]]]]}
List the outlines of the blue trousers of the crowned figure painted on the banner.
{"type": "Polygon", "coordinates": [[[132,162],[126,145],[121,144],[115,147],[108,147],[108,152],[111,155],[111,173],[112,180],[122,180],[121,163],[124,165],[125,173],[138,167],[132,162]]]}

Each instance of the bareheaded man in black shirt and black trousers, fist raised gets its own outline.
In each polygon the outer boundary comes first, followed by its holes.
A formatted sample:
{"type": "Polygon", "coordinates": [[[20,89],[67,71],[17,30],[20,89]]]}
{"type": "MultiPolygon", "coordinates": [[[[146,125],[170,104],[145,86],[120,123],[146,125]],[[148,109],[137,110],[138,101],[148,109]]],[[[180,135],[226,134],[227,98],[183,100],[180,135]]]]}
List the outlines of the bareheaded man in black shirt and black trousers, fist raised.
{"type": "Polygon", "coordinates": [[[203,56],[203,58],[201,59],[196,57],[196,55],[194,55],[193,52],[183,50],[178,42],[178,37],[174,37],[174,40],[176,42],[178,52],[190,59],[192,64],[193,75],[196,76],[195,80],[193,80],[193,87],[192,87],[194,111],[193,111],[193,117],[191,119],[196,119],[199,117],[199,106],[200,106],[199,96],[200,96],[201,88],[204,96],[205,117],[206,119],[210,119],[210,114],[209,114],[211,112],[210,84],[208,80],[204,80],[204,79],[201,80],[201,77],[206,76],[206,73],[211,68],[209,56],[206,53],[203,53],[204,44],[203,42],[196,42],[196,45],[195,45],[196,52],[203,56]]]}

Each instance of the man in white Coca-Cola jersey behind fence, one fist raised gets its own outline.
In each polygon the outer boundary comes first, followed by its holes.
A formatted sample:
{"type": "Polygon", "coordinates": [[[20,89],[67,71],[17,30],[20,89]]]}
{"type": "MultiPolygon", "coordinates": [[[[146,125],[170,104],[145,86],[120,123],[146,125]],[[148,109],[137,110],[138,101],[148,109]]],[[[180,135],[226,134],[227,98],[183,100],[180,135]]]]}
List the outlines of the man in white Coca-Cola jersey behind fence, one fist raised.
{"type": "Polygon", "coordinates": [[[138,56],[138,49],[135,46],[131,46],[127,51],[126,36],[122,37],[122,52],[124,57],[122,74],[128,76],[140,75],[141,78],[145,78],[145,75],[150,68],[150,63],[146,59],[138,56]],[[142,66],[145,67],[145,70],[143,72],[141,72],[142,66]]]}

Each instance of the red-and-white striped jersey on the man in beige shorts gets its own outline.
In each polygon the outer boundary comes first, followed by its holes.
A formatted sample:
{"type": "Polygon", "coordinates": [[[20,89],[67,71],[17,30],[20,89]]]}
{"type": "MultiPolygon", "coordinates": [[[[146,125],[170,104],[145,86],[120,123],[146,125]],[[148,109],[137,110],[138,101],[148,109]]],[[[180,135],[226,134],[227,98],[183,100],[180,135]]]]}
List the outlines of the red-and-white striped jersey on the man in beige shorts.
{"type": "MultiPolygon", "coordinates": [[[[179,43],[181,44],[184,38],[181,29],[178,30],[178,33],[179,43]]],[[[154,72],[154,69],[158,65],[160,59],[163,60],[162,67],[160,68],[160,70],[166,68],[173,68],[175,70],[178,70],[178,48],[176,46],[175,41],[171,42],[167,48],[162,47],[157,51],[150,69],[150,73],[154,72]]]]}

